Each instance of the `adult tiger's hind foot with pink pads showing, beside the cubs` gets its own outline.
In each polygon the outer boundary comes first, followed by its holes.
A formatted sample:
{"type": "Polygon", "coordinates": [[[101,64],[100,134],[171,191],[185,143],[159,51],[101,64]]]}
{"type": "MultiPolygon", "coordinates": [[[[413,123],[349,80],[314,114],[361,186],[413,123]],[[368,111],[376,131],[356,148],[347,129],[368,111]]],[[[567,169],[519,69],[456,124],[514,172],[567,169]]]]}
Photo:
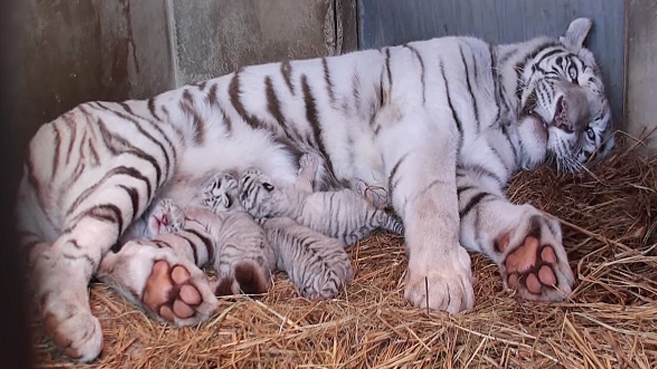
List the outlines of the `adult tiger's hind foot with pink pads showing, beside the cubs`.
{"type": "Polygon", "coordinates": [[[156,320],[189,326],[207,320],[218,306],[204,272],[173,248],[156,241],[127,242],[102,259],[99,278],[156,320]]]}

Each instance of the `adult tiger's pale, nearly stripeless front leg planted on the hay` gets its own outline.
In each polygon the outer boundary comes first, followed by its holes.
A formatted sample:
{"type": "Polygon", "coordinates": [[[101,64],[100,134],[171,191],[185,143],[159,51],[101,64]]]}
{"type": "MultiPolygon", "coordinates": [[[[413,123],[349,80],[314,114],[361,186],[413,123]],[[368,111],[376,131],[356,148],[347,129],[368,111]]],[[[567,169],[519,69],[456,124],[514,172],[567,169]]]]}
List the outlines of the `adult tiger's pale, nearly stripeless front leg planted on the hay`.
{"type": "Polygon", "coordinates": [[[457,313],[474,305],[470,256],[459,244],[459,133],[450,117],[436,118],[421,107],[405,111],[382,127],[380,144],[392,205],[405,227],[404,295],[417,307],[457,313]]]}

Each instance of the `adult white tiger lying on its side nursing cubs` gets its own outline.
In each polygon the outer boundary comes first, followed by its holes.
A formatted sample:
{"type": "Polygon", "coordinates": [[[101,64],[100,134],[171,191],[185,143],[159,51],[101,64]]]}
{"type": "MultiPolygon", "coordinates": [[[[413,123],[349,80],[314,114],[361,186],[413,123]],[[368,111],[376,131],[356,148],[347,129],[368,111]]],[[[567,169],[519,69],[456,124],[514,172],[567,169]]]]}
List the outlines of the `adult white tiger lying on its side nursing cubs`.
{"type": "MultiPolygon", "coordinates": [[[[563,299],[574,276],[558,223],[510,204],[504,188],[518,169],[578,171],[612,148],[599,70],[582,47],[590,26],[578,19],[560,39],[495,47],[446,37],[252,66],[148,100],[80,104],[37,132],[20,187],[47,334],[76,360],[97,357],[87,284],[148,205],[187,204],[221,171],[254,167],[293,183],[297,152],[327,163],[315,189],[387,188],[405,225],[412,305],[474,305],[465,248],[488,255],[523,297],[563,299]]],[[[160,259],[134,268],[147,280],[160,259]]],[[[182,264],[166,261],[169,272],[182,264]]],[[[179,282],[202,290],[187,273],[179,282]]]]}

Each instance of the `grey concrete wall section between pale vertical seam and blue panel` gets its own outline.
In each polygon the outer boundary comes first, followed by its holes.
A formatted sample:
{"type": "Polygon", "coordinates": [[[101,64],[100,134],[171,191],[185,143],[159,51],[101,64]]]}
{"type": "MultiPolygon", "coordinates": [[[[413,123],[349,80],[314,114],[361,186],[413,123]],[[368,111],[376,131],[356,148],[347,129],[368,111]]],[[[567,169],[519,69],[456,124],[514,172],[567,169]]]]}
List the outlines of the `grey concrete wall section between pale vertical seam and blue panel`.
{"type": "Polygon", "coordinates": [[[177,81],[336,53],[333,0],[173,0],[177,81]]]}

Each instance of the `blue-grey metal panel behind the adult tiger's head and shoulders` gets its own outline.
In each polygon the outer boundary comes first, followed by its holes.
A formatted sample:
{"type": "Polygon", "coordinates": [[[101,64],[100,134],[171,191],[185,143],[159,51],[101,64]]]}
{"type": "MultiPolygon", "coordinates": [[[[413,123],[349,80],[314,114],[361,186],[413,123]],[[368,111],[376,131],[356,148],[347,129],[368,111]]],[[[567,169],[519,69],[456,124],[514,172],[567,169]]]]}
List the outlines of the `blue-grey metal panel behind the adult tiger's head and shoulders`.
{"type": "Polygon", "coordinates": [[[361,49],[444,35],[510,43],[562,35],[570,21],[593,19],[587,46],[602,69],[616,121],[622,117],[625,0],[359,0],[361,49]]]}

